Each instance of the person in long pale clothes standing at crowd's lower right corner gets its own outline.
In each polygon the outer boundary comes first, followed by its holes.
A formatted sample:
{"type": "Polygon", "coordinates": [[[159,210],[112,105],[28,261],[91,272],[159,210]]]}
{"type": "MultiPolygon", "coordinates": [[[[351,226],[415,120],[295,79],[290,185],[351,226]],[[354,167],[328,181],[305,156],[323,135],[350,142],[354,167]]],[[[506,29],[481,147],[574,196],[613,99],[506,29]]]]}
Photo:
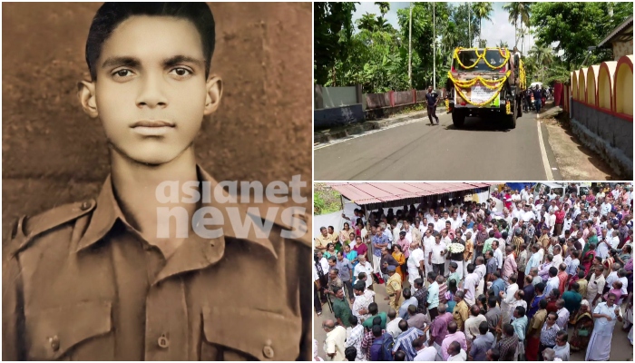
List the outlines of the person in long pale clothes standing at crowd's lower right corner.
{"type": "Polygon", "coordinates": [[[608,299],[605,302],[599,303],[598,306],[593,309],[595,325],[591,339],[589,340],[585,360],[609,360],[615,321],[622,321],[620,307],[615,305],[616,299],[615,294],[610,292],[608,299]]]}

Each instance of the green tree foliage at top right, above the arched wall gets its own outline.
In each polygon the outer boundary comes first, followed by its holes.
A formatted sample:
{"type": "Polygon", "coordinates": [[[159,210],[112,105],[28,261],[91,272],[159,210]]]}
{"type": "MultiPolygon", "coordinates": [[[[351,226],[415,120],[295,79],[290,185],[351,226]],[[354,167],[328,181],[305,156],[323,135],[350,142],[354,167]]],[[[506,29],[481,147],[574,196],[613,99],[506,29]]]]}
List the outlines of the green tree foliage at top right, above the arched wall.
{"type": "MultiPolygon", "coordinates": [[[[633,14],[633,3],[548,2],[531,6],[531,22],[536,28],[536,43],[555,45],[562,50],[562,63],[570,70],[579,67],[596,46],[627,17],[633,14]],[[612,8],[613,16],[609,15],[612,8]]],[[[611,52],[596,49],[586,64],[598,64],[611,59],[611,52]]]]}

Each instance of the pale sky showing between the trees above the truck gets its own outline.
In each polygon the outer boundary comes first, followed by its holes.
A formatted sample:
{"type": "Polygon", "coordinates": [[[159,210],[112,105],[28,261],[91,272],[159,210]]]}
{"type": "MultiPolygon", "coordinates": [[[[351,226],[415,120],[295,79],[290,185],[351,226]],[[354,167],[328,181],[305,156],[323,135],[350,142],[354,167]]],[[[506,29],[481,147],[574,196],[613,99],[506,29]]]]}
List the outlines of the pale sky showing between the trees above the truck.
{"type": "MultiPolygon", "coordinates": [[[[386,14],[386,21],[393,25],[396,29],[399,29],[399,24],[397,22],[397,9],[405,9],[408,7],[410,3],[390,3],[390,11],[386,14]]],[[[461,3],[450,2],[453,5],[459,5],[461,3]]],[[[493,13],[490,15],[492,17],[492,21],[483,21],[483,38],[487,40],[488,46],[493,46],[495,44],[499,44],[501,40],[509,44],[510,47],[513,47],[515,42],[514,39],[514,30],[513,25],[509,23],[509,15],[506,11],[503,10],[503,5],[505,3],[493,3],[493,13]]],[[[361,3],[356,5],[356,11],[353,14],[353,23],[362,15],[366,13],[371,13],[375,15],[380,15],[379,6],[375,5],[375,3],[361,3]]],[[[357,26],[356,26],[357,28],[357,26]]],[[[477,36],[474,36],[474,45],[476,44],[477,36]]],[[[518,44],[518,49],[521,49],[520,44],[518,44]]],[[[529,37],[525,37],[524,41],[524,49],[527,53],[527,50],[530,49],[533,45],[533,39],[529,37]]]]}

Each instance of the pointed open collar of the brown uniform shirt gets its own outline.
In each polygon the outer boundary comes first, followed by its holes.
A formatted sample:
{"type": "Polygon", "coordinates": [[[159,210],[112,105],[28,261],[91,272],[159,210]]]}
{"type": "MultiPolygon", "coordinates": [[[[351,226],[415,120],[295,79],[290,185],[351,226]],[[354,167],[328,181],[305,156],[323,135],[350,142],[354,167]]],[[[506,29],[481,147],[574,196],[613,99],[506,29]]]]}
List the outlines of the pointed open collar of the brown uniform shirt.
{"type": "MultiPolygon", "coordinates": [[[[216,180],[214,180],[210,174],[205,172],[200,166],[197,165],[197,174],[200,182],[210,182],[211,191],[214,191],[215,188],[219,185],[216,180]]],[[[223,190],[223,195],[225,197],[229,196],[227,191],[223,190]]],[[[213,195],[213,194],[212,194],[213,195]]],[[[203,207],[213,207],[218,209],[223,216],[224,226],[223,226],[223,235],[216,239],[203,239],[200,236],[193,233],[190,235],[189,240],[196,241],[197,243],[184,243],[181,247],[174,252],[169,260],[188,260],[190,265],[209,265],[210,263],[214,263],[220,260],[222,257],[223,251],[225,249],[225,239],[233,238],[238,239],[238,233],[234,231],[232,228],[232,223],[230,222],[230,213],[232,216],[239,215],[240,221],[239,224],[243,223],[247,218],[257,219],[258,216],[251,216],[248,213],[248,206],[236,202],[226,202],[220,203],[216,201],[214,198],[211,199],[209,203],[203,203],[203,207]]],[[[84,250],[90,246],[92,246],[98,240],[102,240],[103,237],[112,230],[115,222],[119,220],[129,229],[129,231],[136,232],[130,223],[125,220],[121,209],[119,208],[119,204],[117,200],[114,198],[114,193],[112,191],[112,178],[110,175],[106,178],[106,181],[103,183],[102,191],[97,198],[97,205],[95,210],[93,211],[93,216],[91,221],[89,222],[88,228],[83,234],[82,238],[77,243],[76,252],[80,250],[84,250]]],[[[259,237],[254,228],[249,228],[249,234],[246,238],[240,238],[240,240],[248,240],[249,242],[256,243],[265,249],[269,250],[274,257],[278,258],[278,254],[274,249],[271,241],[265,237],[259,237]]],[[[170,263],[168,263],[170,265],[170,263]]],[[[169,266],[166,266],[166,268],[169,266]]],[[[182,270],[182,266],[175,266],[176,270],[182,270]]],[[[167,269],[164,269],[167,270],[167,269]]],[[[193,269],[186,269],[193,270],[193,269]]]]}

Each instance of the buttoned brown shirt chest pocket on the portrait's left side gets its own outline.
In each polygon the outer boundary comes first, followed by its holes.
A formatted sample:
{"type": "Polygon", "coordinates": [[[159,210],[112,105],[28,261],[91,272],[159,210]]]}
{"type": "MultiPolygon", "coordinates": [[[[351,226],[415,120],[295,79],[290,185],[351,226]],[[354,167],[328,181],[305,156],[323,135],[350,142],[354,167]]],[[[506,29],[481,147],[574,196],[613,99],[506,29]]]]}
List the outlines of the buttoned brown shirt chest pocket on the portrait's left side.
{"type": "Polygon", "coordinates": [[[26,350],[31,360],[113,358],[110,301],[84,301],[26,313],[26,350]]]}

